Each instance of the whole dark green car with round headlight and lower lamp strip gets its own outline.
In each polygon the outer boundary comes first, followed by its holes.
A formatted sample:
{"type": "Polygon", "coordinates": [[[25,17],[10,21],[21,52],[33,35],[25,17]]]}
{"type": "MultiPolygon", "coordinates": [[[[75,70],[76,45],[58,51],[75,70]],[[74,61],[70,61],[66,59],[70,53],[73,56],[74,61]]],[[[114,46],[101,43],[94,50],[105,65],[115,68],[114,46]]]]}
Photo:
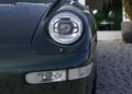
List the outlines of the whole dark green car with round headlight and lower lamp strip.
{"type": "Polygon", "coordinates": [[[95,19],[70,0],[0,0],[0,94],[96,94],[95,19]]]}

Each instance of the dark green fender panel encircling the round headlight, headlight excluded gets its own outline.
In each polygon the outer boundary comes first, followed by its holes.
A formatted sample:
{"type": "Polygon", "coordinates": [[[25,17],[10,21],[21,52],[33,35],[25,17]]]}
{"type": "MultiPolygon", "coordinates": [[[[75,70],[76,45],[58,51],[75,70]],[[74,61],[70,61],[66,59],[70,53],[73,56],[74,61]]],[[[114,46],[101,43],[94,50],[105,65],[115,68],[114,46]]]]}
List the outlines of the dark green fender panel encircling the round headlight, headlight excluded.
{"type": "Polygon", "coordinates": [[[34,35],[33,42],[32,42],[32,48],[35,52],[50,52],[50,54],[62,54],[59,49],[63,49],[63,54],[65,52],[80,52],[80,51],[87,51],[89,50],[89,35],[91,33],[89,23],[87,22],[87,16],[77,7],[67,5],[67,4],[62,4],[58,9],[56,9],[52,15],[54,15],[56,12],[63,12],[63,11],[70,11],[77,13],[81,17],[81,21],[84,23],[84,33],[79,40],[77,40],[75,44],[70,45],[61,45],[57,44],[56,42],[52,40],[50,35],[48,35],[48,19],[46,17],[47,22],[44,21],[45,16],[42,19],[42,22],[38,25],[38,28],[36,30],[36,33],[34,35]],[[48,37],[46,37],[48,36],[48,37]],[[79,50],[78,50],[79,49],[79,50]]]}

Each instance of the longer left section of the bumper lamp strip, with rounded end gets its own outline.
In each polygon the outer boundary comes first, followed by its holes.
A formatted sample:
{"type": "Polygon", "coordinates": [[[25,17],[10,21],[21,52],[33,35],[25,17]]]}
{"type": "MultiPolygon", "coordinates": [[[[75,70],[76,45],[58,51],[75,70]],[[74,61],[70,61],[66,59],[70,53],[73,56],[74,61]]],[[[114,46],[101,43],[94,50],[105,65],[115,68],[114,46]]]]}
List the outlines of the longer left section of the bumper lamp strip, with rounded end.
{"type": "Polygon", "coordinates": [[[66,71],[32,72],[26,74],[25,80],[30,84],[66,81],[66,71]]]}

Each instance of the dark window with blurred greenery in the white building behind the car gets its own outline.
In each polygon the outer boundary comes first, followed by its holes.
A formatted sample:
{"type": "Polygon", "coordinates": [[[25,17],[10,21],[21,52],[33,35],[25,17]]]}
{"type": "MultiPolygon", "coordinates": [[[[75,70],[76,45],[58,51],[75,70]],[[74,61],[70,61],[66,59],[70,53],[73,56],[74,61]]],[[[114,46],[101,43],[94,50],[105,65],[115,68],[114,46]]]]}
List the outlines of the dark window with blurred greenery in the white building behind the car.
{"type": "Polygon", "coordinates": [[[95,14],[98,31],[120,31],[122,22],[121,0],[86,0],[95,14]]]}

